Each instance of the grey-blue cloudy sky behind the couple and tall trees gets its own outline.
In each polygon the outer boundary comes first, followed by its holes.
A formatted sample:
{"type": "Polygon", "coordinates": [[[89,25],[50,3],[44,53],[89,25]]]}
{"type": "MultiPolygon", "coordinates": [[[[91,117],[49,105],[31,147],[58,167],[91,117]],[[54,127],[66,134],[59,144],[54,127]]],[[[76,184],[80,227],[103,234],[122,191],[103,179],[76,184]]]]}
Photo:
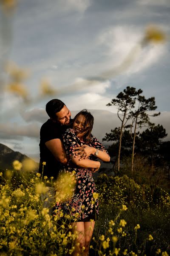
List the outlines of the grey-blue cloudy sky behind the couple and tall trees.
{"type": "MultiPolygon", "coordinates": [[[[0,13],[0,66],[5,60],[29,70],[23,81],[30,101],[1,90],[0,142],[28,156],[39,154],[39,132],[48,119],[45,104],[59,98],[73,112],[87,108],[101,140],[119,126],[116,108],[108,107],[127,86],[155,96],[161,116],[155,119],[170,139],[170,1],[169,0],[22,0],[12,15],[0,13]],[[163,44],[139,42],[149,25],[167,35],[163,44]],[[127,67],[118,70],[129,53],[127,67]],[[136,52],[136,53],[135,53],[136,52]],[[40,96],[41,81],[54,95],[40,96]]],[[[1,72],[1,84],[8,78],[1,72]]],[[[153,120],[154,122],[154,120],[153,120]]]]}

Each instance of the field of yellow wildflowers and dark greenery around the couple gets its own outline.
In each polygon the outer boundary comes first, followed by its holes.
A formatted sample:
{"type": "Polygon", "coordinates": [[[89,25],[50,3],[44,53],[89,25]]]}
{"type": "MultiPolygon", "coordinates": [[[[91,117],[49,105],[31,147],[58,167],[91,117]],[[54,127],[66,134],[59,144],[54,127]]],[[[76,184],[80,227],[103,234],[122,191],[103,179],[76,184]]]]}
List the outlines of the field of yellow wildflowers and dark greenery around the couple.
{"type": "MultiPolygon", "coordinates": [[[[55,217],[43,207],[42,195],[51,180],[39,173],[1,172],[0,255],[71,255],[76,234],[69,215],[55,217]]],[[[68,185],[69,186],[69,185],[68,185]]],[[[99,220],[89,255],[170,255],[170,195],[159,187],[139,185],[126,175],[96,179],[99,220]]],[[[76,219],[75,219],[76,221],[76,219]]]]}

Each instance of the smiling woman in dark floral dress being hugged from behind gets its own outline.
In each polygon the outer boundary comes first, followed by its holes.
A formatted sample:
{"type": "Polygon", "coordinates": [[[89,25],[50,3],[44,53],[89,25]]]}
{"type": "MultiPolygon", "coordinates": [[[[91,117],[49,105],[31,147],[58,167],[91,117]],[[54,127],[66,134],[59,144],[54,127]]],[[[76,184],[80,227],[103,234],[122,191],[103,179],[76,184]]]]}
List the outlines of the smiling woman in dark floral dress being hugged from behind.
{"type": "Polygon", "coordinates": [[[74,173],[77,185],[73,189],[73,196],[64,202],[57,202],[55,212],[62,209],[64,213],[70,213],[73,217],[72,230],[77,231],[79,243],[75,247],[74,256],[82,252],[82,247],[85,247],[82,255],[88,255],[99,213],[92,172],[99,169],[100,162],[95,160],[98,157],[105,162],[110,161],[105,147],[91,134],[93,123],[94,117],[91,113],[86,110],[80,111],[74,117],[72,128],[63,134],[63,144],[70,161],[67,169],[61,170],[59,175],[62,177],[64,172],[74,173]],[[77,165],[76,168],[71,167],[71,164],[77,165]]]}

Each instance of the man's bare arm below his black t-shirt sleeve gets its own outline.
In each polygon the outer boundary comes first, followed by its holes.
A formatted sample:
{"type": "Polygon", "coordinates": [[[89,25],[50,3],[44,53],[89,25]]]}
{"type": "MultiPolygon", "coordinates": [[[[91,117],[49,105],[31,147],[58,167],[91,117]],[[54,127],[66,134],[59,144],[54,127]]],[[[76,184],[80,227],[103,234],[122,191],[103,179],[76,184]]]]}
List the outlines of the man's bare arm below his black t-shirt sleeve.
{"type": "Polygon", "coordinates": [[[68,162],[67,154],[60,139],[48,140],[45,142],[45,145],[51,151],[57,161],[62,164],[66,164],[68,162]]]}

